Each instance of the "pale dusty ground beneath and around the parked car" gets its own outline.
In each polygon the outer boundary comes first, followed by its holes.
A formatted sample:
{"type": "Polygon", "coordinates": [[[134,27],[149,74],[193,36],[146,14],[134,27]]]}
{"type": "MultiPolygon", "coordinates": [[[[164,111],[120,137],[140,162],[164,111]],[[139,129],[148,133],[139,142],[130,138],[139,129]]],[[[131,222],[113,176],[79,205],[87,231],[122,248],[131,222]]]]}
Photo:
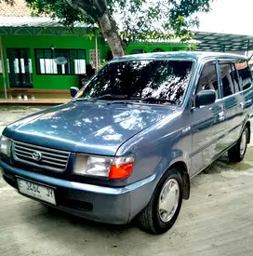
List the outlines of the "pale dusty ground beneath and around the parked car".
{"type": "MultiPolygon", "coordinates": [[[[0,108],[7,124],[37,111],[0,108]]],[[[240,164],[226,156],[192,181],[174,227],[147,235],[134,224],[113,226],[70,216],[19,195],[0,178],[0,255],[253,255],[253,145],[240,164]]]]}

